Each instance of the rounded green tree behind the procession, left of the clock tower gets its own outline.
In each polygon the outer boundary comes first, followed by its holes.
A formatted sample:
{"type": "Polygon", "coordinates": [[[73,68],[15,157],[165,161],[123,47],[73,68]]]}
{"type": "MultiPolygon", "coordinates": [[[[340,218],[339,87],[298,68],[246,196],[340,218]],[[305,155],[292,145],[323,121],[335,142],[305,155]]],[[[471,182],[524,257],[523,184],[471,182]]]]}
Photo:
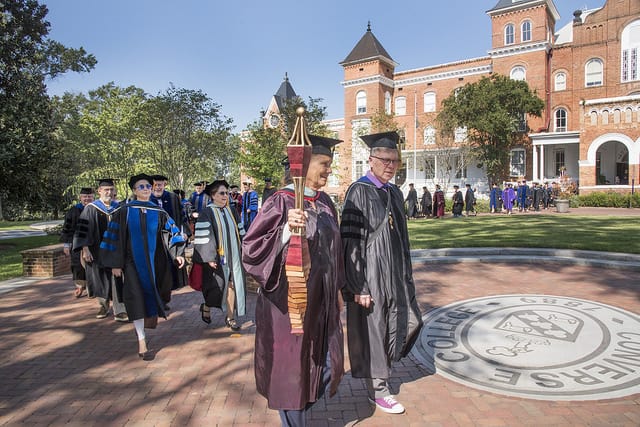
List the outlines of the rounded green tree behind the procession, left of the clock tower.
{"type": "Polygon", "coordinates": [[[203,179],[231,177],[238,153],[232,129],[232,119],[205,93],[173,85],[145,103],[140,122],[151,170],[182,189],[203,179]]]}

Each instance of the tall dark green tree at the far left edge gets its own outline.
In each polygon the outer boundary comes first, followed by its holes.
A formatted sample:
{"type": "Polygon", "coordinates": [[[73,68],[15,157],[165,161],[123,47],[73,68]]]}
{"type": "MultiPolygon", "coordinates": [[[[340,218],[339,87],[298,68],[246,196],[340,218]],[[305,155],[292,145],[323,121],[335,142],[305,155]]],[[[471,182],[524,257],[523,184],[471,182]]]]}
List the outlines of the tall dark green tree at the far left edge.
{"type": "Polygon", "coordinates": [[[47,8],[35,0],[0,2],[0,219],[3,206],[40,209],[43,168],[58,147],[45,81],[67,71],[89,71],[96,60],[47,38],[47,8]]]}

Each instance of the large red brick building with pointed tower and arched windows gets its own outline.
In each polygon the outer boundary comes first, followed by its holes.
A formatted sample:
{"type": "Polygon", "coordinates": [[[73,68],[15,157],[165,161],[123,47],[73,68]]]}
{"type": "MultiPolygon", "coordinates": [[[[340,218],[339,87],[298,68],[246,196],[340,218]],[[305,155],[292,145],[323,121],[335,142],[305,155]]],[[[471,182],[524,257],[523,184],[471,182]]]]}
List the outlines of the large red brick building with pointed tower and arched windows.
{"type": "Polygon", "coordinates": [[[344,194],[366,172],[368,150],[358,135],[367,133],[378,110],[393,113],[404,128],[397,184],[433,190],[436,183],[470,183],[486,192],[482,165],[454,153],[453,173],[443,166],[434,123],[443,99],[491,73],[526,80],[546,105],[541,118],[527,118],[530,144],[511,152],[514,179],[551,182],[566,171],[582,194],[628,192],[640,181],[640,0],[606,0],[576,11],[560,29],[553,0],[499,0],[487,15],[487,55],[406,71],[396,70],[367,28],[340,62],[344,119],[328,125],[345,143],[338,146],[327,192],[344,194]]]}

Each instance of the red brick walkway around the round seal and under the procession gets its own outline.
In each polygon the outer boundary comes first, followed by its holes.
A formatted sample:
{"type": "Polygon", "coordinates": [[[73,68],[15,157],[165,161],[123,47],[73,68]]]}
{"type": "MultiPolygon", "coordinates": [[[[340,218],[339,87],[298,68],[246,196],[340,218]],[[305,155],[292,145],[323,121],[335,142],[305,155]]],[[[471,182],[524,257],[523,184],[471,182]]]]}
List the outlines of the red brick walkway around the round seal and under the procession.
{"type": "MultiPolygon", "coordinates": [[[[468,298],[535,293],[640,313],[640,278],[625,270],[443,264],[416,267],[415,278],[423,312],[468,298]]],[[[279,425],[255,391],[255,295],[242,331],[231,334],[220,312],[211,325],[200,320],[198,293],[175,292],[168,321],[148,332],[156,359],[143,362],[133,326],[95,319],[97,303],[72,298],[72,289],[70,278],[61,277],[2,295],[1,425],[279,425]]],[[[374,412],[362,381],[347,374],[338,394],[314,407],[310,425],[640,425],[638,394],[588,402],[506,397],[429,375],[411,357],[395,373],[392,387],[405,414],[374,412]]]]}

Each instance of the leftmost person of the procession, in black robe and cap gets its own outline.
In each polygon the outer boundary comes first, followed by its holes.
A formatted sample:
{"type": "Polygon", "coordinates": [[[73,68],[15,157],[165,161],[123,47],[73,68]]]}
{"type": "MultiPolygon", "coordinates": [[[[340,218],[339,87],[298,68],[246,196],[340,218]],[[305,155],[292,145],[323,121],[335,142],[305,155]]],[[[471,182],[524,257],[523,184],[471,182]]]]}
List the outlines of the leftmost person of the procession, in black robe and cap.
{"type": "Polygon", "coordinates": [[[84,266],[80,260],[80,252],[73,249],[73,236],[78,228],[78,220],[85,206],[93,202],[93,188],[84,187],[80,189],[80,202],[73,205],[64,216],[60,241],[64,244],[64,254],[71,257],[71,274],[73,283],[76,285],[74,295],[80,298],[87,287],[87,276],[84,266]]]}

